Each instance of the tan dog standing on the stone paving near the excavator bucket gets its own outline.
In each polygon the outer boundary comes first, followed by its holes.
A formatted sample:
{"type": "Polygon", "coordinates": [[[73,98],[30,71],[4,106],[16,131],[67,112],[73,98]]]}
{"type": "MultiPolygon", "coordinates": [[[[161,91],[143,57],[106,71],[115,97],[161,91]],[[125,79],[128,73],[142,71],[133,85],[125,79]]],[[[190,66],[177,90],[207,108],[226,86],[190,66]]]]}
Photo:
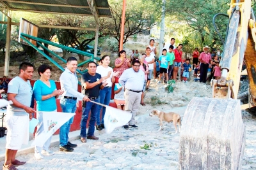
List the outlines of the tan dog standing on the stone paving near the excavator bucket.
{"type": "Polygon", "coordinates": [[[179,132],[180,132],[180,126],[181,126],[181,120],[180,115],[174,112],[164,113],[160,110],[152,110],[151,113],[149,113],[150,117],[153,115],[156,115],[159,118],[160,121],[160,128],[158,131],[161,131],[164,129],[163,121],[165,122],[173,122],[173,125],[175,127],[175,133],[177,133],[177,124],[179,125],[179,132]]]}

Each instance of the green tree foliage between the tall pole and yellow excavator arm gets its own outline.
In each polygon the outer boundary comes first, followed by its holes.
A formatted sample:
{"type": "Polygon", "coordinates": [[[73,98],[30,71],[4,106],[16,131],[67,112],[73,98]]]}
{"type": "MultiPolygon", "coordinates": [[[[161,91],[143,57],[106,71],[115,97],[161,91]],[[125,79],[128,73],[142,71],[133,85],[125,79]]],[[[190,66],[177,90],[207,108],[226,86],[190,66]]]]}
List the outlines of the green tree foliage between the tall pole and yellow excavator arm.
{"type": "MultiPolygon", "coordinates": [[[[191,31],[197,32],[200,36],[200,45],[211,45],[212,41],[215,45],[220,46],[220,38],[216,36],[216,31],[212,25],[212,18],[216,13],[227,13],[229,6],[228,0],[205,1],[205,0],[188,0],[180,1],[179,5],[175,0],[169,0],[166,6],[166,15],[175,16],[180,22],[186,22],[191,31]]],[[[223,38],[225,38],[225,29],[227,28],[228,18],[218,18],[216,25],[220,30],[223,38]]]]}

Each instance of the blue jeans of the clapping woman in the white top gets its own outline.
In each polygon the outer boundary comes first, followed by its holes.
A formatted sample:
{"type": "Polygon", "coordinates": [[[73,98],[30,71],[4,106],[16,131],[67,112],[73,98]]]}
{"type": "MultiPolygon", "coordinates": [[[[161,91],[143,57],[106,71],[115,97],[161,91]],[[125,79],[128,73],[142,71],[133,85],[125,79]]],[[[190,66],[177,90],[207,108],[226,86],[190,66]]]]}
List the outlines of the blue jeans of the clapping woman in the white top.
{"type": "MultiPolygon", "coordinates": [[[[105,104],[105,105],[109,105],[109,101],[110,101],[110,97],[111,97],[111,87],[109,88],[106,88],[104,87],[104,89],[100,90],[100,103],[101,104],[105,104]]],[[[104,116],[105,116],[105,113],[106,113],[106,107],[103,107],[102,108],[102,117],[101,117],[101,120],[100,120],[100,110],[101,110],[102,106],[99,105],[99,108],[98,108],[98,111],[97,111],[97,125],[100,125],[100,124],[104,124],[104,116]]]]}

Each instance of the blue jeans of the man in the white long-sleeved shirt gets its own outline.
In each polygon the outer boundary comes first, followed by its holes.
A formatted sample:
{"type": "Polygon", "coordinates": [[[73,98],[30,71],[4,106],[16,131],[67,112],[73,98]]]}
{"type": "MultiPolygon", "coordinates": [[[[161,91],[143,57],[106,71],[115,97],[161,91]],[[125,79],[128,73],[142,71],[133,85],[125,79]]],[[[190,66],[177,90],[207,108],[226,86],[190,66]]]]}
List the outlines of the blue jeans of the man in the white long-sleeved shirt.
{"type": "MultiPolygon", "coordinates": [[[[60,106],[65,113],[76,112],[76,100],[73,99],[60,99],[60,106]]],[[[68,132],[70,125],[73,123],[74,117],[70,118],[65,124],[60,127],[60,146],[65,146],[68,143],[68,132]]]]}

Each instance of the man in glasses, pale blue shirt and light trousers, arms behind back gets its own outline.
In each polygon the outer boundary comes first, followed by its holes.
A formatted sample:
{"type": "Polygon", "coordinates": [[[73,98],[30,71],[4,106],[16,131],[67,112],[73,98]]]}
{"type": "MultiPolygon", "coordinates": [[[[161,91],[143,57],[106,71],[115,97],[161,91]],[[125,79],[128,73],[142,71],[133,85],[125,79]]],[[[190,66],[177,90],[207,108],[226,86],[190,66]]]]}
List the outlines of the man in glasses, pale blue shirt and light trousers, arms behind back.
{"type": "Polygon", "coordinates": [[[119,83],[125,88],[125,111],[132,113],[131,120],[124,125],[125,130],[138,128],[138,126],[135,125],[135,116],[140,106],[140,97],[144,81],[145,76],[143,71],[140,70],[139,60],[133,60],[132,67],[126,69],[119,78],[119,83]]]}

